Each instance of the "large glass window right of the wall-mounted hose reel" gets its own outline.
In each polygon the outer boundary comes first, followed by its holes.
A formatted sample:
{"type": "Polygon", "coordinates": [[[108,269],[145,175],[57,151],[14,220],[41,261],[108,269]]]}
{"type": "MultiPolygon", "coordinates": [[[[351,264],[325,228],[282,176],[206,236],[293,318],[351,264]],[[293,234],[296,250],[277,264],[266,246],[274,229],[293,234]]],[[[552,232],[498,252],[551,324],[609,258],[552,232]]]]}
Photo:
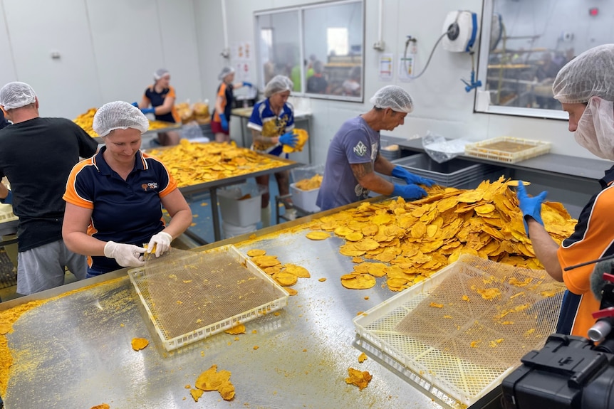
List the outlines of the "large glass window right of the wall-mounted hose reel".
{"type": "MultiPolygon", "coordinates": [[[[611,43],[614,4],[595,15],[583,1],[484,0],[476,110],[567,118],[552,97],[556,73],[575,55],[611,43]]],[[[594,8],[593,8],[594,9],[594,8]]]]}

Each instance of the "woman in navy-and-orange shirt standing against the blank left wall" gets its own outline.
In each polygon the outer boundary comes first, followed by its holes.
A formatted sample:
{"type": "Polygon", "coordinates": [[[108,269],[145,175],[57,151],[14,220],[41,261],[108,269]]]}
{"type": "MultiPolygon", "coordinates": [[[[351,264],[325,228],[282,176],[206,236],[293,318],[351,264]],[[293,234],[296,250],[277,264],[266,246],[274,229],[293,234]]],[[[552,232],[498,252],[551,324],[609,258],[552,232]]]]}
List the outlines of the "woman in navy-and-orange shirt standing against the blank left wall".
{"type": "MultiPolygon", "coordinates": [[[[147,87],[141,102],[132,105],[140,108],[143,114],[153,114],[157,121],[179,124],[181,118],[175,110],[176,98],[175,88],[170,86],[170,73],[160,68],[154,73],[154,83],[147,87]]],[[[159,132],[157,135],[162,146],[176,145],[181,137],[177,131],[159,132]]]]}

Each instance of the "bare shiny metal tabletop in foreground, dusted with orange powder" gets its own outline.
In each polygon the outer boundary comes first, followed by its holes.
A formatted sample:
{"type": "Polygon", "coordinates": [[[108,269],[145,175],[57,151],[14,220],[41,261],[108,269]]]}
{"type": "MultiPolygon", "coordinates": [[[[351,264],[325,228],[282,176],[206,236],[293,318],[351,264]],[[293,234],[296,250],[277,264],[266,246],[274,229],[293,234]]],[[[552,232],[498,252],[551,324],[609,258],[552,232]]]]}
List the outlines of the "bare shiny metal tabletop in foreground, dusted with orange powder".
{"type": "MultiPolygon", "coordinates": [[[[279,315],[267,314],[246,323],[246,334],[217,334],[165,353],[125,270],[108,274],[118,280],[101,282],[27,312],[7,336],[15,361],[3,397],[6,408],[82,409],[101,403],[112,409],[437,408],[373,359],[358,363],[352,319],[394,293],[380,282],[370,290],[342,287],[340,275],[352,270],[350,257],[338,253],[342,240],[311,241],[305,233],[222,242],[235,243],[241,253],[264,249],[283,263],[302,265],[311,272],[311,278],[301,278],[293,286],[298,294],[288,299],[279,315]],[[150,346],[133,351],[130,341],[135,337],[148,339],[150,346]],[[213,364],[231,371],[234,400],[224,401],[212,391],[194,403],[184,387],[194,388],[197,376],[213,364]],[[345,383],[350,367],[373,375],[363,391],[345,383]]],[[[96,277],[76,285],[101,280],[96,277]]],[[[0,310],[59,291],[0,304],[0,310]]]]}

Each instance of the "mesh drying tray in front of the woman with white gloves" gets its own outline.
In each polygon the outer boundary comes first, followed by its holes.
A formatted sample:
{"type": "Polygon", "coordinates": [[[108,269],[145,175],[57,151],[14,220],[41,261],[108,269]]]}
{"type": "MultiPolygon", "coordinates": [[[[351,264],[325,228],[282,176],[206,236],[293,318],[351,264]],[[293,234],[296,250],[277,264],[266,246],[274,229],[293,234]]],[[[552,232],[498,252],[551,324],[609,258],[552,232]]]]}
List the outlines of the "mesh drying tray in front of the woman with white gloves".
{"type": "MultiPolygon", "coordinates": [[[[167,252],[168,253],[168,252],[167,252]]],[[[288,292],[226,245],[170,255],[128,270],[167,351],[286,306],[288,292]]]]}

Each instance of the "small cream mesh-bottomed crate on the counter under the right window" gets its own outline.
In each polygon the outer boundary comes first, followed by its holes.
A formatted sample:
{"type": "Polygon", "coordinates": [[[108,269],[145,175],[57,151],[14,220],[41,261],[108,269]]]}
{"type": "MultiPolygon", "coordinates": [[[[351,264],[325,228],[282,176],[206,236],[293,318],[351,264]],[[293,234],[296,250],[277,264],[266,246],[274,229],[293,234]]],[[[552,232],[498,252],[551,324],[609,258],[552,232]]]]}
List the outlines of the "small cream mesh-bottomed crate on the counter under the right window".
{"type": "Polygon", "coordinates": [[[547,154],[551,143],[515,137],[496,137],[465,145],[465,154],[477,158],[514,164],[547,154]]]}

